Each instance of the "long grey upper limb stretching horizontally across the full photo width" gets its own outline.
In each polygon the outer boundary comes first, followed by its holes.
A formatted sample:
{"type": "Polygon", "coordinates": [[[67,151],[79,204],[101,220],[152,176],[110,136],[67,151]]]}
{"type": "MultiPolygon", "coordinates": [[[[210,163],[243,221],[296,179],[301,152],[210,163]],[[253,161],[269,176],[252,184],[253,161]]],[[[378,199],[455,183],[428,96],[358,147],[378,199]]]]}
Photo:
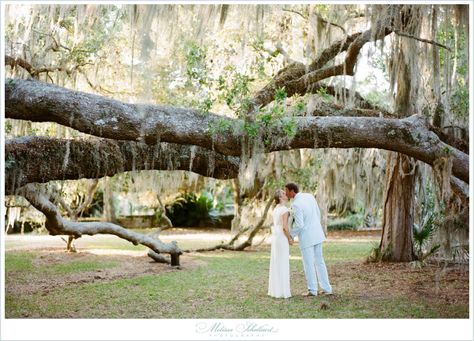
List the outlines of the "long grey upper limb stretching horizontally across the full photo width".
{"type": "MultiPolygon", "coordinates": [[[[350,114],[348,111],[346,114],[350,114]]],[[[56,122],[84,133],[118,140],[197,145],[240,156],[245,133],[242,120],[156,105],[134,105],[71,91],[37,81],[7,80],[5,116],[56,122]],[[226,123],[232,132],[212,135],[210,126],[226,123]]],[[[282,124],[261,127],[264,151],[299,148],[379,148],[414,157],[430,165],[450,154],[453,175],[469,181],[469,156],[440,141],[421,115],[405,119],[373,117],[294,117],[295,137],[282,124]]],[[[217,169],[217,167],[216,167],[217,169]]]]}

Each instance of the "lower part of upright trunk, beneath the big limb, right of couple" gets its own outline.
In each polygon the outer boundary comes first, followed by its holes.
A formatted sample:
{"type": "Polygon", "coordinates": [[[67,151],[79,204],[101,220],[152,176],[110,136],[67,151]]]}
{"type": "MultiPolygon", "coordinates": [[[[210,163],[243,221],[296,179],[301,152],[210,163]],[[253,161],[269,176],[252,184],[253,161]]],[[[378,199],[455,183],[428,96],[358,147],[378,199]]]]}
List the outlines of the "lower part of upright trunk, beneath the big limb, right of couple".
{"type": "Polygon", "coordinates": [[[410,262],[413,252],[415,164],[409,157],[390,153],[380,250],[382,259],[410,262]]]}

